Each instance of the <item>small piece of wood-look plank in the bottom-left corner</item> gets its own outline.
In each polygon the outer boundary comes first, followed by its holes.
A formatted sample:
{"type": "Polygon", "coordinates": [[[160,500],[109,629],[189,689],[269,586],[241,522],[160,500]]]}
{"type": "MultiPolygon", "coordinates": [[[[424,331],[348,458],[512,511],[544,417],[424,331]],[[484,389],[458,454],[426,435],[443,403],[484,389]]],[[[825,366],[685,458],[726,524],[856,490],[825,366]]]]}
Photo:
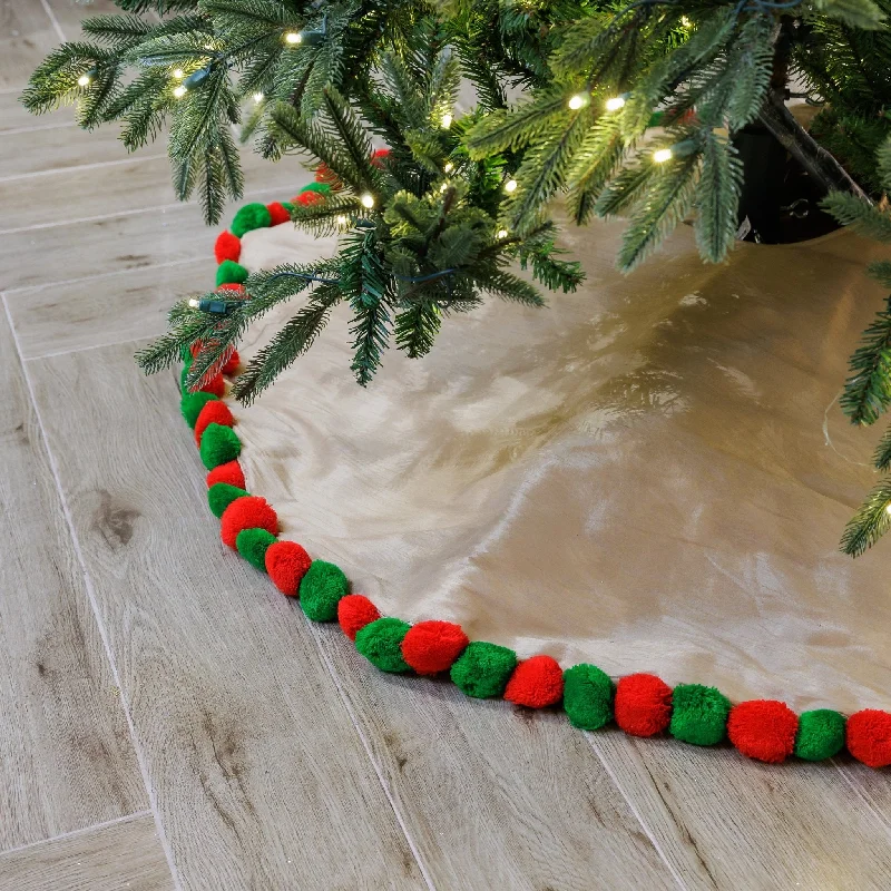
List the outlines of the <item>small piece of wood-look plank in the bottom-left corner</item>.
{"type": "Polygon", "coordinates": [[[0,855],[0,891],[170,891],[151,814],[0,855]]]}

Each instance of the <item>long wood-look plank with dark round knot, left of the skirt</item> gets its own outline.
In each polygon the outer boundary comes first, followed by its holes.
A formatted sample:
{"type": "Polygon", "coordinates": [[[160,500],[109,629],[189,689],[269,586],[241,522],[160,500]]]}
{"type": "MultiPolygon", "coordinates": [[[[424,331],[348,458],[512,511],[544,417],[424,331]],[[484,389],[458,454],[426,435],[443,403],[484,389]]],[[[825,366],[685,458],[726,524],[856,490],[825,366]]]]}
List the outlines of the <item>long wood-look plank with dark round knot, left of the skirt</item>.
{"type": "Polygon", "coordinates": [[[29,368],[184,885],[423,888],[298,607],[221,544],[174,383],[131,352],[29,368]]]}

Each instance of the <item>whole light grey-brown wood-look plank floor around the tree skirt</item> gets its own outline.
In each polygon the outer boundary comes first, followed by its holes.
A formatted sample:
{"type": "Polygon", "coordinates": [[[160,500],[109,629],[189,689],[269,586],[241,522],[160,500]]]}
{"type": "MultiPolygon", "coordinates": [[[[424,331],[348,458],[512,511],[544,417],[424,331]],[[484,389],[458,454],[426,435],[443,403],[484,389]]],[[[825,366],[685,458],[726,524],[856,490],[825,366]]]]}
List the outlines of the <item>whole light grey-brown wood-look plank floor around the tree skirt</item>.
{"type": "MultiPolygon", "coordinates": [[[[0,10],[2,891],[891,887],[887,773],[385,676],[224,552],[173,380],[133,363],[213,235],[163,146],[18,106],[84,8],[0,10]]],[[[304,178],[248,161],[257,199],[304,178]]]]}

